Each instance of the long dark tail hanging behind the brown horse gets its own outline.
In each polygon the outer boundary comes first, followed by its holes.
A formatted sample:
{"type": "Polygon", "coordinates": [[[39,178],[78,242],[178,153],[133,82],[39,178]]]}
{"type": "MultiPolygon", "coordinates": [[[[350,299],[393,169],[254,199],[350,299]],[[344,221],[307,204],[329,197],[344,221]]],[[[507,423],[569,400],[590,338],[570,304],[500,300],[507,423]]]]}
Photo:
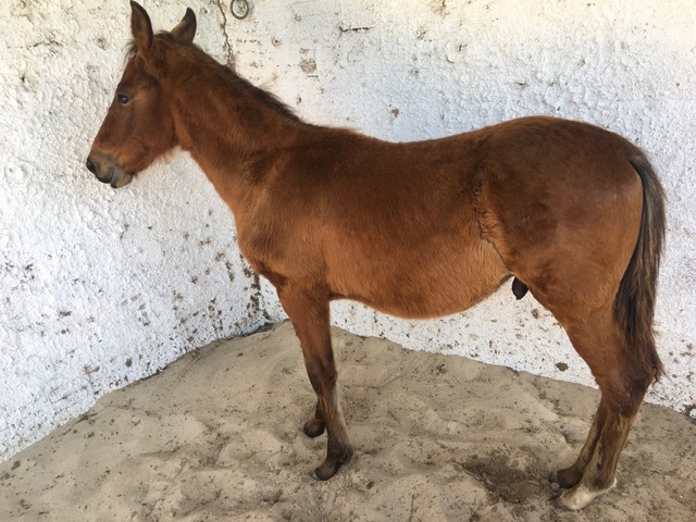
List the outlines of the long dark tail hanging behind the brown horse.
{"type": "Polygon", "coordinates": [[[663,368],[655,347],[652,318],[664,245],[664,190],[644,154],[636,154],[630,161],[643,182],[643,214],[638,241],[619,285],[613,311],[634,360],[657,381],[663,368]]]}

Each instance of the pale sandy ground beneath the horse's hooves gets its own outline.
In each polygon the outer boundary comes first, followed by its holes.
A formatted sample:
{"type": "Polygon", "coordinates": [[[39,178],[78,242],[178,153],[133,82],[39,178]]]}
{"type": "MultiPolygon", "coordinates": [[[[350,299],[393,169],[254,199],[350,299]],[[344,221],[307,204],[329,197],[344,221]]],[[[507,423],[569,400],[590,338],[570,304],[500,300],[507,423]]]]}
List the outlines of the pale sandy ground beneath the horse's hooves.
{"type": "Polygon", "coordinates": [[[335,330],[353,460],[325,436],[289,324],[215,343],[103,397],[0,465],[0,521],[693,521],[696,425],[644,406],[619,486],[580,513],[547,476],[598,393],[335,330]]]}

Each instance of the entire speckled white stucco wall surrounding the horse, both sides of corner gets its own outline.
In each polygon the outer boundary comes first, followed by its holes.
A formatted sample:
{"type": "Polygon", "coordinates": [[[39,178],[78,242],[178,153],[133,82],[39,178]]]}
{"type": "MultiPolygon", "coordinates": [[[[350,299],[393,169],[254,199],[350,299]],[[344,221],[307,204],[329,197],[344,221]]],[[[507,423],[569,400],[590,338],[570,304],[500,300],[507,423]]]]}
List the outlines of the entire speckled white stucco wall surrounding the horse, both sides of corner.
{"type": "MultiPolygon", "coordinates": [[[[692,0],[256,0],[245,21],[226,1],[142,3],[156,28],[190,5],[203,49],[314,123],[412,140],[556,114],[638,144],[669,197],[657,316],[668,376],[648,400],[693,411],[692,0]]],[[[84,169],[128,18],[126,1],[12,0],[0,12],[0,459],[189,349],[283,318],[188,157],[119,191],[84,169]]],[[[347,303],[333,318],[410,348],[592,384],[554,319],[507,286],[438,321],[347,303]]]]}

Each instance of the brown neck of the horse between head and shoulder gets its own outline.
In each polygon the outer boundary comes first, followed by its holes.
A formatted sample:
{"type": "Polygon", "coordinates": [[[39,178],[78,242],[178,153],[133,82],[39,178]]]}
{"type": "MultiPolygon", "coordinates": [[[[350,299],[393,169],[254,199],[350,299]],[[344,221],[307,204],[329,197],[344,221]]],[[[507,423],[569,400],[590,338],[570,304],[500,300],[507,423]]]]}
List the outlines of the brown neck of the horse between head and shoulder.
{"type": "Polygon", "coordinates": [[[167,89],[179,145],[235,211],[264,174],[250,165],[293,147],[310,126],[217,64],[187,69],[167,89]]]}

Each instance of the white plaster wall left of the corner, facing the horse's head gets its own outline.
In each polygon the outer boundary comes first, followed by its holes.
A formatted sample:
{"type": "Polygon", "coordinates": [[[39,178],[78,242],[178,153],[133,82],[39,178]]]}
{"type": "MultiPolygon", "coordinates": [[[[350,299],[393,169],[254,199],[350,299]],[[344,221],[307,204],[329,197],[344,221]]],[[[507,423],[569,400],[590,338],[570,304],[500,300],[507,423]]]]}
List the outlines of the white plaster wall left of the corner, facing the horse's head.
{"type": "MultiPolygon", "coordinates": [[[[263,322],[232,214],[190,159],[119,191],[84,167],[121,76],[128,3],[9,3],[0,10],[0,460],[104,393],[263,322]]],[[[181,17],[177,8],[157,9],[158,20],[181,17]]],[[[219,13],[201,18],[202,45],[221,51],[219,13]]]]}

